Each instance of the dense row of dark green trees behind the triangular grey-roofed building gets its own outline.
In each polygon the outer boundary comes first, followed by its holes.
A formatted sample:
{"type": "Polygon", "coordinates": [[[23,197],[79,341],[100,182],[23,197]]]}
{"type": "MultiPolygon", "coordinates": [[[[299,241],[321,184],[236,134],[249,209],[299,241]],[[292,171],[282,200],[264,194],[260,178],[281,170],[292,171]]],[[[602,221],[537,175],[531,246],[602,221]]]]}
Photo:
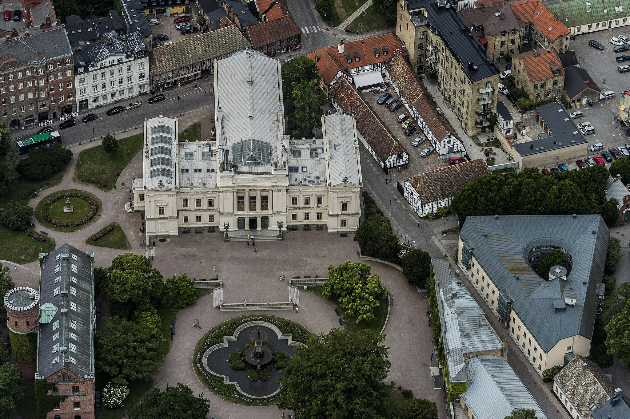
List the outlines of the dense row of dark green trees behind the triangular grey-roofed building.
{"type": "Polygon", "coordinates": [[[469,215],[595,214],[608,176],[600,165],[547,176],[534,167],[495,171],[467,183],[450,206],[460,225],[469,215]]]}

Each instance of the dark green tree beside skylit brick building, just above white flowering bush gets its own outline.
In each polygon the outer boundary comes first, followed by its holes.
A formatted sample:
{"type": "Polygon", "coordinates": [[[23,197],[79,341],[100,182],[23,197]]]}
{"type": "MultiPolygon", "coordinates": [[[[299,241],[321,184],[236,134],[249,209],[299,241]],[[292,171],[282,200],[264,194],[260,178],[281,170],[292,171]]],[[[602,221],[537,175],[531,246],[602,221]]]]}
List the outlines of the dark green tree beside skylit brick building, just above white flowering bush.
{"type": "Polygon", "coordinates": [[[117,386],[148,379],[156,374],[156,348],[159,340],[147,328],[118,316],[104,317],[95,333],[96,369],[106,372],[117,386]]]}

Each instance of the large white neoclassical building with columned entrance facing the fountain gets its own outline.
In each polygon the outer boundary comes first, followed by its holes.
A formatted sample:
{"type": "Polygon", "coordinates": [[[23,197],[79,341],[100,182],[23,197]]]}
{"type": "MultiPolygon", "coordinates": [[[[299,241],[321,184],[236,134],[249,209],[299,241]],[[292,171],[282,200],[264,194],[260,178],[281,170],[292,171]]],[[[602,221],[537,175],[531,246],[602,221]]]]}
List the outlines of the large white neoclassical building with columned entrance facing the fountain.
{"type": "Polygon", "coordinates": [[[147,236],[227,224],[355,231],[363,181],[354,118],[323,116],[323,139],[286,135],[280,62],[256,51],[214,62],[214,82],[216,141],[179,142],[177,119],[144,121],[134,203],[147,236]]]}

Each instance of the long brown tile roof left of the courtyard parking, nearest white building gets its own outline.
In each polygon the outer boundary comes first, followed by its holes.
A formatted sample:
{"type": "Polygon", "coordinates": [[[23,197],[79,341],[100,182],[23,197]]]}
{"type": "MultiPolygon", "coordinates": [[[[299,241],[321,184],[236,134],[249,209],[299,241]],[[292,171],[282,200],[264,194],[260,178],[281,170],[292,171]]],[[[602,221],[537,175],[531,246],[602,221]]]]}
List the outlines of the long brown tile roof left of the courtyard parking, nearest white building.
{"type": "Polygon", "coordinates": [[[406,153],[403,146],[396,141],[394,135],[345,77],[340,77],[333,84],[330,89],[330,96],[340,106],[343,113],[355,117],[357,131],[361,133],[383,163],[391,155],[406,153]]]}

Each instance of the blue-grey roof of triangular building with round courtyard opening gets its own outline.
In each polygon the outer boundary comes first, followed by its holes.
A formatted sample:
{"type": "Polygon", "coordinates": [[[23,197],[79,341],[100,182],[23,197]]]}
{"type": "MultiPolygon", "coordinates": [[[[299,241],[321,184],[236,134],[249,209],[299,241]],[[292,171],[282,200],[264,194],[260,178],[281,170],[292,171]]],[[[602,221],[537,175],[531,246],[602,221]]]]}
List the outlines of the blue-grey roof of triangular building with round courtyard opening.
{"type": "Polygon", "coordinates": [[[562,338],[592,337],[595,291],[604,274],[609,235],[600,215],[469,216],[460,232],[497,288],[510,293],[512,310],[544,352],[562,338]],[[524,255],[541,245],[558,246],[571,255],[573,266],[566,280],[546,281],[527,263],[524,255]],[[564,298],[577,302],[555,312],[554,299],[564,298]]]}

